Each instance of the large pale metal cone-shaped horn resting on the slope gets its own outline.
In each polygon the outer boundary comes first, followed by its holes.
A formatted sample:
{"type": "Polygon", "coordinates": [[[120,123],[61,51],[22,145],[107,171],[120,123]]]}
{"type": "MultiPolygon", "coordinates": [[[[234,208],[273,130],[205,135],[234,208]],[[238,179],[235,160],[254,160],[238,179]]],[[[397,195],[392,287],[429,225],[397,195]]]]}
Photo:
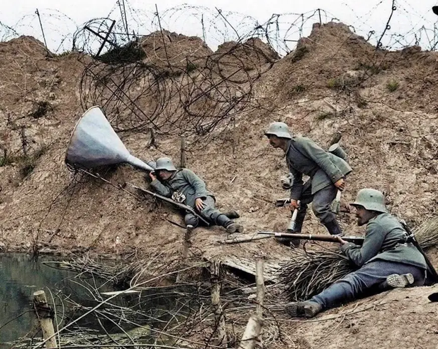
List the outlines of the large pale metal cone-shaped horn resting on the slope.
{"type": "Polygon", "coordinates": [[[76,123],[64,161],[83,168],[127,162],[142,170],[155,169],[154,161],[145,163],[129,154],[99,106],[89,108],[76,123]]]}

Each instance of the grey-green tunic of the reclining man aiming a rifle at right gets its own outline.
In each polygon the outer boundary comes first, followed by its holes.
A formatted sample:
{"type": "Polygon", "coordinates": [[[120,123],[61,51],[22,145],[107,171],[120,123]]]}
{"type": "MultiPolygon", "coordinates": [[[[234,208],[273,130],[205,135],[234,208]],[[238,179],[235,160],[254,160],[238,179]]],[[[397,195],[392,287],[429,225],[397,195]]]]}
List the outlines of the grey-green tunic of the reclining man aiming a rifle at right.
{"type": "Polygon", "coordinates": [[[381,213],[368,222],[362,246],[348,243],[341,251],[358,267],[381,260],[426,269],[426,261],[417,248],[411,243],[401,243],[406,238],[407,233],[398,219],[381,213]]]}

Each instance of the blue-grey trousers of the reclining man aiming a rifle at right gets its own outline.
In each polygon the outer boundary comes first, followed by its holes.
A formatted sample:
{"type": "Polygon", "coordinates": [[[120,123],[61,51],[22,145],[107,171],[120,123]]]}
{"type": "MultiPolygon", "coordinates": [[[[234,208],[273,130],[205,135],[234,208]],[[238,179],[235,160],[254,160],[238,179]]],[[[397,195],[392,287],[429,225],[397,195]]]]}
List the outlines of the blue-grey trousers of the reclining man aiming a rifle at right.
{"type": "MultiPolygon", "coordinates": [[[[386,281],[386,278],[391,274],[408,273],[414,277],[414,286],[424,284],[425,269],[403,263],[372,261],[338,280],[320,294],[312,297],[310,301],[321,304],[323,309],[331,308],[340,303],[364,296],[367,291],[376,291],[379,285],[386,281]]],[[[383,291],[383,289],[380,291],[383,291]]]]}

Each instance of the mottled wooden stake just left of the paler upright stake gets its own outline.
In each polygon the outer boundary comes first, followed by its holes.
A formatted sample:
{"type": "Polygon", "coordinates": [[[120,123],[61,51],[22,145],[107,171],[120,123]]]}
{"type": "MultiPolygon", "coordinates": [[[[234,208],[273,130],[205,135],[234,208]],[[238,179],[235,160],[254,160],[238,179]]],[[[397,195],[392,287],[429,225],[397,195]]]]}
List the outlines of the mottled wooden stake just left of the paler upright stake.
{"type": "Polygon", "coordinates": [[[213,306],[214,316],[217,323],[217,333],[219,337],[218,345],[221,347],[227,347],[227,331],[225,328],[225,317],[222,311],[220,294],[221,294],[221,282],[220,282],[220,262],[211,261],[210,264],[211,274],[211,305],[213,306]]]}

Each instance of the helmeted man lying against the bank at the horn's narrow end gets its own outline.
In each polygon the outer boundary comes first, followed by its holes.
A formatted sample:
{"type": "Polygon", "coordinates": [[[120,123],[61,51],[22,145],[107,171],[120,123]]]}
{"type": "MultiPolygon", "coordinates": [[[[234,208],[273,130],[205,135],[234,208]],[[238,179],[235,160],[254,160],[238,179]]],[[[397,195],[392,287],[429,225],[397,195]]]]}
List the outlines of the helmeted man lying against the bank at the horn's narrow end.
{"type": "MultiPolygon", "coordinates": [[[[243,226],[232,220],[239,218],[239,214],[235,210],[219,211],[214,195],[193,171],[186,168],[177,170],[172,160],[164,157],[157,160],[155,172],[151,172],[149,176],[152,179],[152,188],[160,195],[192,207],[210,224],[223,226],[230,234],[243,231],[243,226]]],[[[199,218],[191,212],[185,213],[184,220],[186,225],[193,227],[200,223],[199,218]]]]}

